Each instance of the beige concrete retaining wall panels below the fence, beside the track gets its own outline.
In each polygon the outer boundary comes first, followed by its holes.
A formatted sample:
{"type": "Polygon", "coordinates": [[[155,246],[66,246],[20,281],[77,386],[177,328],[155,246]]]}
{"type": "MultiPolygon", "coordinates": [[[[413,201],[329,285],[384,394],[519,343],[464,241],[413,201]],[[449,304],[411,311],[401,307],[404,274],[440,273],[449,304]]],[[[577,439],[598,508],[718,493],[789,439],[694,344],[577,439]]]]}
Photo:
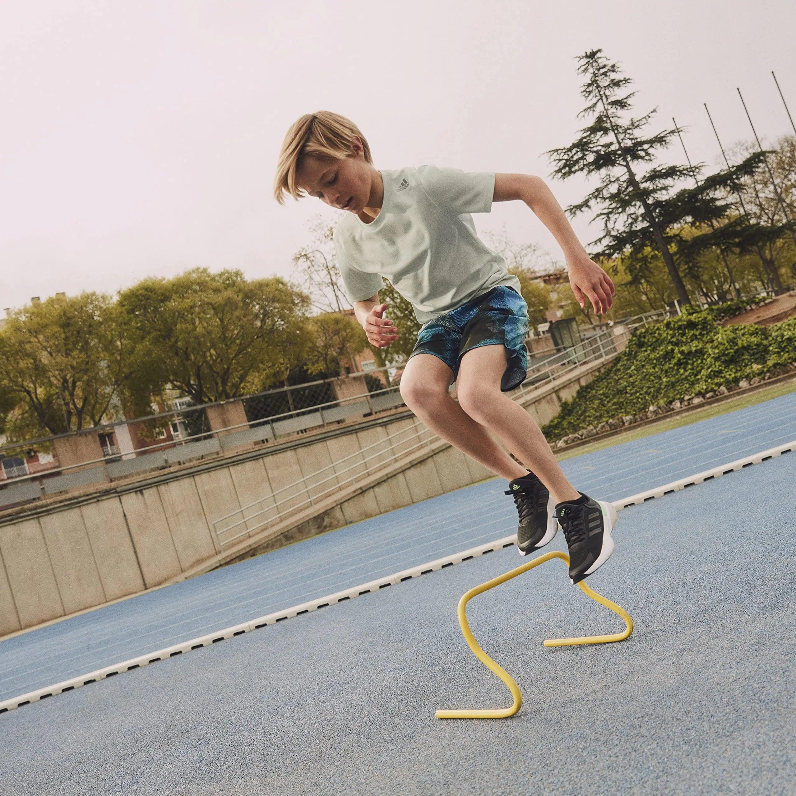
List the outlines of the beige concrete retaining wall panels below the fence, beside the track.
{"type": "MultiPolygon", "coordinates": [[[[594,373],[561,388],[537,391],[526,401],[526,410],[538,423],[547,423],[561,401],[594,373]]],[[[334,496],[363,472],[366,456],[377,455],[386,467],[400,459],[407,450],[402,440],[408,436],[400,432],[413,423],[415,416],[404,414],[349,434],[306,440],[281,451],[264,449],[262,455],[242,462],[208,464],[188,474],[155,479],[137,490],[117,489],[80,505],[55,505],[33,518],[6,522],[0,526],[0,635],[158,586],[201,562],[212,568],[221,552],[214,521],[319,470],[324,472],[310,484],[309,494],[334,496]]],[[[449,446],[388,474],[372,488],[264,541],[247,555],[490,477],[491,470],[449,446]]],[[[300,507],[308,497],[303,487],[291,487],[284,495],[289,497],[288,508],[300,507]]],[[[246,536],[268,518],[255,516],[268,505],[245,509],[242,525],[232,533],[246,536]]]]}

